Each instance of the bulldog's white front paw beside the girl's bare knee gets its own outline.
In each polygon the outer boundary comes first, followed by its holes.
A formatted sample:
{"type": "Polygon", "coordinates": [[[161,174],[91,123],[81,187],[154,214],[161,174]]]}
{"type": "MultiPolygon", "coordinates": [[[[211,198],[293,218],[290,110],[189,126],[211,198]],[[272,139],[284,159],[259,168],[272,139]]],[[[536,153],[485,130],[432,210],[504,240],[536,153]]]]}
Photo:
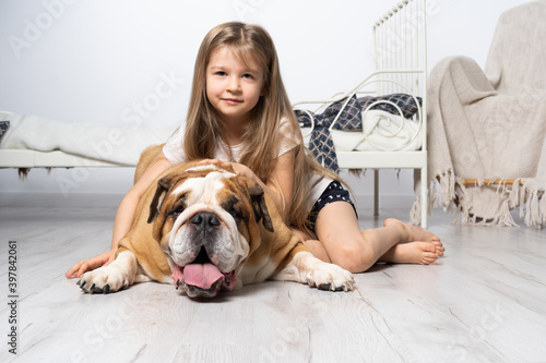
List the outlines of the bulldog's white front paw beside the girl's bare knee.
{"type": "Polygon", "coordinates": [[[307,283],[320,290],[351,291],[355,283],[353,274],[337,265],[320,262],[307,274],[307,283]]]}

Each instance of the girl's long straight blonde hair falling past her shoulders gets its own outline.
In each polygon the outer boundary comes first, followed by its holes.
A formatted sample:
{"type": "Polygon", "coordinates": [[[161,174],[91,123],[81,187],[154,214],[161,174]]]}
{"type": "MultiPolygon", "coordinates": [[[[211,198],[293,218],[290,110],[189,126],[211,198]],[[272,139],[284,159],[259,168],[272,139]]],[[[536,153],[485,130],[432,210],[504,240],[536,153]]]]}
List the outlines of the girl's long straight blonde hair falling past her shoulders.
{"type": "MultiPolygon", "coordinates": [[[[239,162],[249,167],[266,183],[275,167],[281,145],[294,144],[296,153],[293,198],[286,222],[301,231],[309,231],[307,218],[314,203],[309,198],[313,186],[310,185],[309,178],[314,172],[325,174],[333,180],[340,178],[307,155],[296,116],[281,77],[275,46],[271,36],[261,26],[229,22],[214,27],[204,37],[193,72],[183,141],[186,156],[189,160],[214,158],[217,145],[221,145],[221,142],[225,143],[223,123],[206,97],[205,83],[211,55],[222,47],[228,47],[238,60],[247,65],[251,57],[263,71],[262,96],[251,111],[251,121],[246,125],[242,137],[244,150],[239,162]],[[288,128],[283,128],[283,132],[280,132],[282,119],[286,120],[288,128]]],[[[229,148],[227,152],[230,153],[229,148]]]]}

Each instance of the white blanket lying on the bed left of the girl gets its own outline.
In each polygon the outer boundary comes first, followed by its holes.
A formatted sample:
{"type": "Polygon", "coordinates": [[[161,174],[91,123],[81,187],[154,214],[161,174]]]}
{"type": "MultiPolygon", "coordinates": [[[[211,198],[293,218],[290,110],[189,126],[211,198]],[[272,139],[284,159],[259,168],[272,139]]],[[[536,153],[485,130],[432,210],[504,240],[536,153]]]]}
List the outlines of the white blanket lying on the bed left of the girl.
{"type": "Polygon", "coordinates": [[[61,150],[128,166],[135,166],[147,146],[165,143],[176,130],[145,124],[63,123],[4,111],[0,111],[1,120],[9,120],[10,128],[0,140],[0,149],[61,150]]]}

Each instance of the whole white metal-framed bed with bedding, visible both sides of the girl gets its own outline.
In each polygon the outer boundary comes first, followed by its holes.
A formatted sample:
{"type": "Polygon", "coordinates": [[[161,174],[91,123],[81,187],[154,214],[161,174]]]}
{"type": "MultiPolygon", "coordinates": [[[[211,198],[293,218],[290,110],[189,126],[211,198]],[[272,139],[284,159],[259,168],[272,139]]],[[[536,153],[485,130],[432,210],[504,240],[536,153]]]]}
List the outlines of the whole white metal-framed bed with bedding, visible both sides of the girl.
{"type": "MultiPolygon", "coordinates": [[[[425,0],[401,1],[373,24],[373,72],[349,90],[294,105],[305,140],[324,166],[335,171],[375,170],[376,214],[378,170],[416,170],[411,220],[424,228],[428,205],[425,17],[425,0]],[[328,126],[324,112],[330,112],[328,126]],[[347,126],[351,113],[359,125],[347,126]]],[[[0,168],[20,171],[134,167],[146,146],[165,142],[174,131],[142,125],[61,124],[10,112],[0,112],[0,122],[10,122],[0,138],[0,168]]]]}

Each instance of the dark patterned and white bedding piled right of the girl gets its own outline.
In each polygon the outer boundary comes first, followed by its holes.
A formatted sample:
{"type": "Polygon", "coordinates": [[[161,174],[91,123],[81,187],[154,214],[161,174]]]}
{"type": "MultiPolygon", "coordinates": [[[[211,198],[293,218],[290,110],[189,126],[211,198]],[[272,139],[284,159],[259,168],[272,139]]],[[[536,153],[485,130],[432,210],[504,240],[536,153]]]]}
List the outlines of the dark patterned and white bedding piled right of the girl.
{"type": "Polygon", "coordinates": [[[319,162],[339,172],[336,152],[419,149],[420,124],[412,118],[420,102],[419,97],[406,94],[360,98],[353,95],[329,105],[319,114],[295,111],[306,146],[319,162]]]}

